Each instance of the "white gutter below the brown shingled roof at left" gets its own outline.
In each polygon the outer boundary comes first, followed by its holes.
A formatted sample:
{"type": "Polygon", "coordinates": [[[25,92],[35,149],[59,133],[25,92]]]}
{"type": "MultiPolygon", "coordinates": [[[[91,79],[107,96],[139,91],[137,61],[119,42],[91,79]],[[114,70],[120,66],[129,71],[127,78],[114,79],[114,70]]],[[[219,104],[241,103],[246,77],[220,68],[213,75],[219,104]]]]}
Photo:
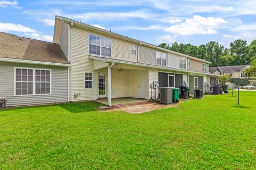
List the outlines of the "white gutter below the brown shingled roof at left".
{"type": "Polygon", "coordinates": [[[0,57],[0,62],[38,64],[38,65],[50,65],[50,66],[62,66],[62,67],[69,67],[70,66],[70,64],[63,64],[63,63],[52,63],[52,62],[42,62],[42,61],[34,61],[34,60],[22,60],[22,59],[16,59],[16,58],[3,58],[3,57],[0,57]]]}

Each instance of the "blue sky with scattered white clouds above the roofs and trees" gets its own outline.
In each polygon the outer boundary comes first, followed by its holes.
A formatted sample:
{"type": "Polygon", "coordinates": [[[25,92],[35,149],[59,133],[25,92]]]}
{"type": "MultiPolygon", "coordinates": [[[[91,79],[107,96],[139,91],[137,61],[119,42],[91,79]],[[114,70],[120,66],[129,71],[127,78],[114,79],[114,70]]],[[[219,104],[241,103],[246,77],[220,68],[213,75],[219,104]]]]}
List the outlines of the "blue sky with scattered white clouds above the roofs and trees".
{"type": "Polygon", "coordinates": [[[256,1],[0,0],[0,31],[52,41],[55,15],[157,45],[256,39],[256,1]]]}

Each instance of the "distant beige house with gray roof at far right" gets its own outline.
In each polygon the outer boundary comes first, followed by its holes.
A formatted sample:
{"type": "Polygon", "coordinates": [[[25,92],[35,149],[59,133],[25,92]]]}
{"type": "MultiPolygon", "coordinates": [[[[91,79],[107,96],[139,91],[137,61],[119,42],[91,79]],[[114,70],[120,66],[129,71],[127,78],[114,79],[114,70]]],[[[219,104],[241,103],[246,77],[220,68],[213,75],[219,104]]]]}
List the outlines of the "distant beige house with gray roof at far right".
{"type": "MultiPolygon", "coordinates": [[[[229,75],[230,78],[241,78],[241,79],[247,79],[250,81],[250,84],[252,86],[256,87],[256,79],[250,78],[245,73],[246,69],[250,68],[250,65],[233,65],[233,66],[217,66],[217,67],[210,67],[210,72],[212,74],[218,74],[218,75],[229,75]]],[[[226,82],[229,88],[232,87],[232,84],[230,82],[226,82]]],[[[236,86],[235,86],[236,87],[236,86]]]]}

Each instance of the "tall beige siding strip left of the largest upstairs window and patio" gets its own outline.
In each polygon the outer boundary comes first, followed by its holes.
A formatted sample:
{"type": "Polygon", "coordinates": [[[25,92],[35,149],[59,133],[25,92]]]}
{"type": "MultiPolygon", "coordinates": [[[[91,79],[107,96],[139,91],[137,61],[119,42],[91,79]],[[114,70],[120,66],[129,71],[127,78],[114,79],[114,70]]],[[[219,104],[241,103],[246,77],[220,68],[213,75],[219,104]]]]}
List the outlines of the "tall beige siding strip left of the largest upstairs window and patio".
{"type": "Polygon", "coordinates": [[[73,27],[71,38],[71,100],[93,100],[92,89],[84,88],[84,73],[93,72],[93,60],[88,56],[88,35],[82,29],[73,27]]]}

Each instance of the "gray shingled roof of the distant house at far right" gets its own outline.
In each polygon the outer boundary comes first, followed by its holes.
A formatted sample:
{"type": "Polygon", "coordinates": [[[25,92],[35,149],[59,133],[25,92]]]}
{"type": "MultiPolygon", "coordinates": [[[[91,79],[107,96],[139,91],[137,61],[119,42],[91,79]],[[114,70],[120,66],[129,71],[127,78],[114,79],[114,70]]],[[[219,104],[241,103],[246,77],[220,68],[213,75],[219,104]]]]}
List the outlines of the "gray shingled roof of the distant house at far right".
{"type": "Polygon", "coordinates": [[[242,71],[247,65],[232,65],[232,66],[217,66],[217,67],[210,67],[210,73],[215,73],[216,71],[220,72],[221,74],[223,71],[225,73],[238,73],[242,71]]]}

